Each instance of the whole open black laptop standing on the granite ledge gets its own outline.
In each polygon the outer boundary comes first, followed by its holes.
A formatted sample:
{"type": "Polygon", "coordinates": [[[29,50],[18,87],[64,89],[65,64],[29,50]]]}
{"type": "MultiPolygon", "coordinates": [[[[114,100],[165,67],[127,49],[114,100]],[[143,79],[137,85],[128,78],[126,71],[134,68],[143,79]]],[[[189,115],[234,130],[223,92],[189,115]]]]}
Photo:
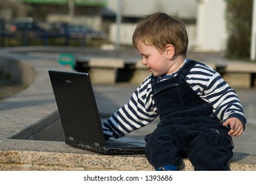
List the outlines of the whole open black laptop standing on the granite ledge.
{"type": "Polygon", "coordinates": [[[145,153],[145,143],[136,139],[107,143],[88,73],[49,70],[49,77],[67,145],[101,154],[145,153]]]}

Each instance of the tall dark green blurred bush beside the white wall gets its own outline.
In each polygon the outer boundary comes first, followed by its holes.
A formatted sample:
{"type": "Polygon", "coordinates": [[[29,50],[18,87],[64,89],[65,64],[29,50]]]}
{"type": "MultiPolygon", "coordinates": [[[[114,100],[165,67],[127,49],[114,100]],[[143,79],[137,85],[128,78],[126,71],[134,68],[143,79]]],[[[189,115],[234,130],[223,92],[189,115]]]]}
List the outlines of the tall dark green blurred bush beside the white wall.
{"type": "Polygon", "coordinates": [[[249,58],[253,0],[226,0],[228,30],[226,56],[249,58]]]}

